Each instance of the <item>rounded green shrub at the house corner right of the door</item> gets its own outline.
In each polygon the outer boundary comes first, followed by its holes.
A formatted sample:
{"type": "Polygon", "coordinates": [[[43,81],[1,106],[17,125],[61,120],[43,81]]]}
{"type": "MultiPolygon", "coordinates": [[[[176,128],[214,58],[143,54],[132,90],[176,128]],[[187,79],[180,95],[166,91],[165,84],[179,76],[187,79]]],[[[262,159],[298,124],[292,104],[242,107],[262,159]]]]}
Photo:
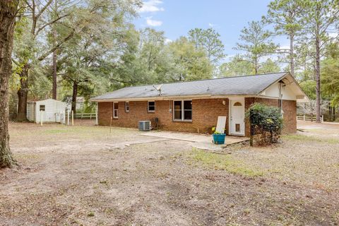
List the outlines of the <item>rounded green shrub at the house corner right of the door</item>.
{"type": "Polygon", "coordinates": [[[255,103],[245,113],[251,124],[251,133],[256,131],[257,142],[261,145],[278,141],[283,130],[283,117],[279,107],[255,103]]]}

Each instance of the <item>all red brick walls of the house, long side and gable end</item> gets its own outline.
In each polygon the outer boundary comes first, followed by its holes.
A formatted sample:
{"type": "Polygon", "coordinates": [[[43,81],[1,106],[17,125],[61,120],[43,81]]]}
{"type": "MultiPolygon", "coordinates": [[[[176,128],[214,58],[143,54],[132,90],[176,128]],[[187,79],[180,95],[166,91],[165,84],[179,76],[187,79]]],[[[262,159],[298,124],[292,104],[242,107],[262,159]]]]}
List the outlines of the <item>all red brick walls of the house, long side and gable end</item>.
{"type": "MultiPolygon", "coordinates": [[[[258,97],[245,98],[245,110],[254,102],[278,107],[278,100],[258,97]]],[[[155,112],[147,112],[147,101],[129,102],[129,112],[125,112],[125,102],[119,102],[119,118],[112,120],[112,126],[138,128],[138,121],[159,119],[160,129],[168,131],[184,131],[191,133],[208,133],[216,126],[218,116],[226,116],[226,133],[228,134],[228,99],[201,99],[192,101],[192,121],[173,121],[172,100],[155,101],[155,112]],[[222,101],[225,100],[225,105],[222,101]]],[[[99,125],[109,126],[113,112],[112,102],[99,102],[99,125]]],[[[283,100],[285,133],[297,131],[297,103],[294,100],[283,100]]],[[[245,124],[245,135],[249,136],[249,124],[245,124]]]]}

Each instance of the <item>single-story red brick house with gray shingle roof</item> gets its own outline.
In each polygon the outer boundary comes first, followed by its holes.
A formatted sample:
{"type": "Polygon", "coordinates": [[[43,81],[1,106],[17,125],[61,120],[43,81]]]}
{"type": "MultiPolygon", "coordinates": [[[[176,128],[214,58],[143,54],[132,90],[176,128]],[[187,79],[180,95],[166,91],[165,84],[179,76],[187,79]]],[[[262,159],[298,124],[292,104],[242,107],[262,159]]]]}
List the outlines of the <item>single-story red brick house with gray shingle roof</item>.
{"type": "Polygon", "coordinates": [[[201,81],[121,88],[92,99],[98,124],[138,128],[157,118],[167,131],[208,133],[218,116],[226,116],[226,133],[249,136],[244,114],[255,102],[281,107],[286,133],[297,130],[297,102],[307,95],[290,73],[215,78],[201,81]]]}

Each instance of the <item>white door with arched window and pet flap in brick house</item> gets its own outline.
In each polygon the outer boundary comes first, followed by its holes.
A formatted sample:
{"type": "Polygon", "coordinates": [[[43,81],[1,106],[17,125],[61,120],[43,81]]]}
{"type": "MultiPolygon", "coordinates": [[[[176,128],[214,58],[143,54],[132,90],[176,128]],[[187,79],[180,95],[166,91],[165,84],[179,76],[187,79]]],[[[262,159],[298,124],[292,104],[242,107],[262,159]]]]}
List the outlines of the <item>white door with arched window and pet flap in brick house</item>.
{"type": "Polygon", "coordinates": [[[244,98],[230,100],[230,134],[245,135],[245,106],[244,98]]]}

